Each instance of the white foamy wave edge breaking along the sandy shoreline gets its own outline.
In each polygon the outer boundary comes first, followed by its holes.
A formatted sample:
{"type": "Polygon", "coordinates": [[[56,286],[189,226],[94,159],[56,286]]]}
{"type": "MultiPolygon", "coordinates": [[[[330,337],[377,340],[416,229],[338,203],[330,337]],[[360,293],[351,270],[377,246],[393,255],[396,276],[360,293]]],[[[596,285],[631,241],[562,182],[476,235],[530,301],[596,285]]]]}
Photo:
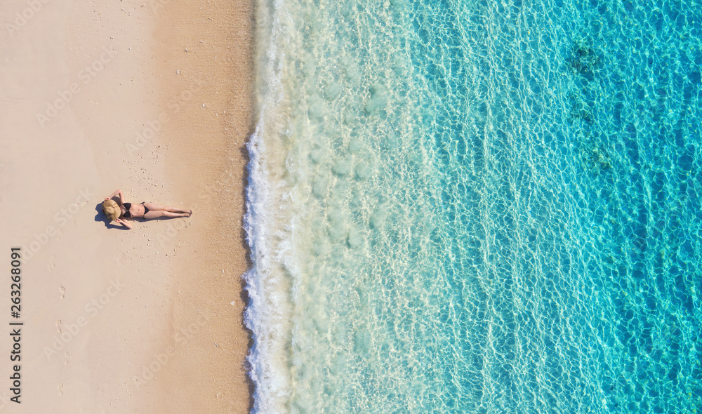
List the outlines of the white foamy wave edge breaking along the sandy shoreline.
{"type": "Polygon", "coordinates": [[[275,0],[272,4],[261,0],[258,10],[257,22],[261,29],[257,37],[263,40],[262,46],[258,47],[265,50],[259,53],[258,65],[258,73],[263,76],[259,82],[262,90],[260,112],[256,131],[246,145],[250,161],[244,229],[253,268],[242,276],[249,293],[244,321],[253,336],[253,346],[247,356],[251,365],[249,375],[256,386],[252,413],[285,413],[291,394],[285,352],[289,342],[290,308],[286,306],[288,293],[281,288],[283,274],[277,257],[280,246],[275,245],[272,237],[279,222],[279,211],[274,207],[280,202],[275,194],[279,183],[271,182],[267,171],[265,137],[267,133],[277,133],[267,130],[275,128],[276,114],[284,98],[281,46],[285,41],[282,18],[286,11],[283,0],[275,0]]]}

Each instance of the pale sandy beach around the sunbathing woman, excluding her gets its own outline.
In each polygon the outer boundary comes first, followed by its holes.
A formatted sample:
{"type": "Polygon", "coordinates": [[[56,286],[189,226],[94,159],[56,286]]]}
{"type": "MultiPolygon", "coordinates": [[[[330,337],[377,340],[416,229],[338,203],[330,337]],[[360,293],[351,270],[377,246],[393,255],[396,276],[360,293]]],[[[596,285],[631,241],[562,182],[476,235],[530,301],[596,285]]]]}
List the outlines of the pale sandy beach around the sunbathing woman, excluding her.
{"type": "Polygon", "coordinates": [[[22,256],[0,412],[248,412],[251,2],[12,0],[0,21],[7,272],[22,256]],[[121,229],[116,189],[194,214],[121,229]]]}

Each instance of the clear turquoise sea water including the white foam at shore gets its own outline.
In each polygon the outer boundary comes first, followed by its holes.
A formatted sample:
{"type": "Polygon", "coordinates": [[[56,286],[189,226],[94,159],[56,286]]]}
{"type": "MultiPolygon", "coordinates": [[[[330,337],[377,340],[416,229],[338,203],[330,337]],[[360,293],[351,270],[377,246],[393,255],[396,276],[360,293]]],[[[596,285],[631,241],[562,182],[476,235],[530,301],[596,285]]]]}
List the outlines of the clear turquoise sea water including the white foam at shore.
{"type": "Polygon", "coordinates": [[[260,0],[256,413],[702,410],[702,2],[260,0]]]}

